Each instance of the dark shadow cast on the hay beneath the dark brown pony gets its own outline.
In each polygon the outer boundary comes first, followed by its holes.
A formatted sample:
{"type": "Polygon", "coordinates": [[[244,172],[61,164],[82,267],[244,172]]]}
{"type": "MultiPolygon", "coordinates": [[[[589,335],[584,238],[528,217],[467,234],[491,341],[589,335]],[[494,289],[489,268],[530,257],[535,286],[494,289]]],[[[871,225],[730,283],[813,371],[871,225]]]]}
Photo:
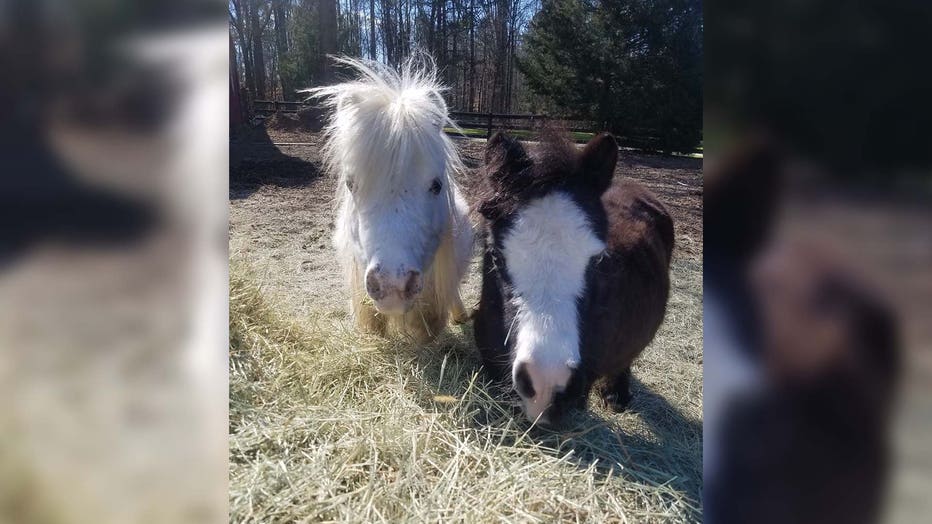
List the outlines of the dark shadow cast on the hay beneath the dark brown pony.
{"type": "MultiPolygon", "coordinates": [[[[677,492],[700,515],[702,422],[685,416],[636,377],[632,378],[631,404],[619,418],[604,418],[592,410],[576,412],[560,431],[550,431],[531,428],[518,397],[485,380],[470,326],[464,326],[461,333],[448,331],[429,348],[412,351],[418,352],[418,373],[410,379],[416,383],[417,400],[425,409],[449,411],[477,429],[477,438],[488,439],[490,444],[534,446],[580,469],[592,467],[599,480],[620,477],[662,488],[661,493],[677,492]],[[475,377],[475,383],[470,385],[462,377],[475,377]],[[470,397],[479,398],[471,402],[470,397]]],[[[590,398],[597,399],[595,390],[590,398]]],[[[670,502],[674,498],[671,493],[670,502]]]]}

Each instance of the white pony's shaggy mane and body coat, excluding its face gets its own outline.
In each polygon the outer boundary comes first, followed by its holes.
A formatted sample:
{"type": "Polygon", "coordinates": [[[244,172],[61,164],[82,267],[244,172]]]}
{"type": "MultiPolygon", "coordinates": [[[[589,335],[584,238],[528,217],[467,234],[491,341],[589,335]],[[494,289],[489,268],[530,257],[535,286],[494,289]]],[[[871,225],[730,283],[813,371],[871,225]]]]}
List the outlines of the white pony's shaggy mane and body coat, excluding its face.
{"type": "Polygon", "coordinates": [[[398,72],[372,61],[337,61],[354,70],[356,79],[302,92],[333,111],[324,129],[322,156],[327,171],[337,178],[334,246],[346,272],[353,316],[367,331],[399,329],[427,340],[443,329],[451,314],[459,321],[466,318],[459,283],[471,255],[472,227],[453,176],[463,164],[443,132],[444,126],[457,126],[447,115],[443,87],[429,56],[412,57],[398,72]],[[404,177],[417,163],[428,161],[442,164],[436,176],[443,180],[448,223],[415,307],[400,316],[380,315],[367,301],[365,268],[354,255],[349,235],[356,205],[388,198],[405,187],[404,177]]]}

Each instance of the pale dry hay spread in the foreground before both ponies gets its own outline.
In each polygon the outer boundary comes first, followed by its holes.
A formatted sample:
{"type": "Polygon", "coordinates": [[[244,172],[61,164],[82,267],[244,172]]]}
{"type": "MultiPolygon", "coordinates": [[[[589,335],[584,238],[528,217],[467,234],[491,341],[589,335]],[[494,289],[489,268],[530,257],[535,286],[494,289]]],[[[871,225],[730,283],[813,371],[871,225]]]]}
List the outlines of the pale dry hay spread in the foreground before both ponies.
{"type": "Polygon", "coordinates": [[[231,520],[701,520],[700,269],[674,261],[631,409],[593,405],[557,434],[490,397],[469,325],[415,347],[343,309],[288,318],[234,261],[231,520]]]}

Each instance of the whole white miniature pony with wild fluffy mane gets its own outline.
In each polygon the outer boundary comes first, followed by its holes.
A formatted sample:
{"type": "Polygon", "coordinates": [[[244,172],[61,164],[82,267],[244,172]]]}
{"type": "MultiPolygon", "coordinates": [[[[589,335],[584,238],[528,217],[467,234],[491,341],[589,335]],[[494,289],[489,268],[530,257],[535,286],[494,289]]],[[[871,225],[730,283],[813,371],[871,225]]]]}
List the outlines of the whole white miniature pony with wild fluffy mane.
{"type": "Polygon", "coordinates": [[[452,315],[465,321],[459,284],[472,255],[462,169],[443,127],[452,125],[429,60],[400,71],[348,58],[352,82],[308,89],[333,113],[323,157],[338,179],[334,245],[360,328],[419,341],[452,315]]]}

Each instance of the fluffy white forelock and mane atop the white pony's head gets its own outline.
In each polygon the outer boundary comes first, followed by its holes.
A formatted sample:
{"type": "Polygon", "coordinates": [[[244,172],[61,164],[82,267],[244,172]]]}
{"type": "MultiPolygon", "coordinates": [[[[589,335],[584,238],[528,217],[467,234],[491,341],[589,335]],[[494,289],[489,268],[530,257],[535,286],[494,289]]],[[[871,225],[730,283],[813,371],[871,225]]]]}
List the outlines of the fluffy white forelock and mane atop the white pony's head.
{"type": "MultiPolygon", "coordinates": [[[[305,89],[333,109],[324,129],[322,155],[327,170],[338,178],[338,196],[345,196],[352,176],[357,198],[378,198],[400,187],[415,155],[443,158],[445,188],[452,188],[454,171],[462,163],[444,126],[456,127],[443,100],[433,60],[415,55],[400,71],[370,60],[337,58],[357,78],[332,86],[305,89]]],[[[338,199],[342,200],[342,198],[338,199]]]]}

